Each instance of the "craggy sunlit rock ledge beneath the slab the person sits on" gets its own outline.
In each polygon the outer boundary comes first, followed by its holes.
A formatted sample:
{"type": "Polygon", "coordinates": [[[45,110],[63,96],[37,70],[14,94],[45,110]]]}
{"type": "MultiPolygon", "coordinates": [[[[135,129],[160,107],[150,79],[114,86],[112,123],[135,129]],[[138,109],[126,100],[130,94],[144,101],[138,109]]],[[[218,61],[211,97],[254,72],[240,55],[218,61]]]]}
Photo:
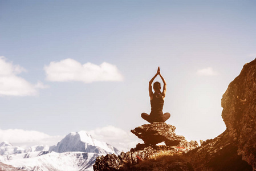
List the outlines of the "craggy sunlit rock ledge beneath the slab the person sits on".
{"type": "Polygon", "coordinates": [[[171,156],[171,154],[177,153],[180,154],[180,149],[165,145],[157,145],[154,146],[154,148],[152,146],[149,146],[147,148],[144,148],[143,150],[137,150],[127,153],[121,152],[119,156],[116,156],[115,154],[107,154],[107,156],[97,157],[94,164],[94,170],[148,171],[156,170],[156,166],[158,170],[193,170],[192,165],[188,161],[184,160],[182,156],[168,158],[168,160],[165,161],[166,155],[171,156]],[[159,154],[165,159],[160,159],[157,161],[155,161],[155,159],[152,159],[152,156],[158,156],[159,154]]]}

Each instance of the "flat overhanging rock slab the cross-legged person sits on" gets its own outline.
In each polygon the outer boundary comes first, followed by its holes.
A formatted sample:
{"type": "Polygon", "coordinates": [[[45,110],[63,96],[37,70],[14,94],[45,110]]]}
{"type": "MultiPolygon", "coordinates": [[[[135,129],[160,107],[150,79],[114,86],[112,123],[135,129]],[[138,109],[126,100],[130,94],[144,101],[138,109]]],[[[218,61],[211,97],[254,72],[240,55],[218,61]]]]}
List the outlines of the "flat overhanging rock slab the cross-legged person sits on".
{"type": "MultiPolygon", "coordinates": [[[[167,146],[182,146],[184,148],[194,148],[198,146],[196,141],[185,139],[184,136],[178,136],[175,133],[176,127],[166,123],[145,124],[131,130],[139,139],[145,143],[144,146],[154,146],[164,142],[167,146]]],[[[143,146],[140,144],[140,146],[143,146]]]]}

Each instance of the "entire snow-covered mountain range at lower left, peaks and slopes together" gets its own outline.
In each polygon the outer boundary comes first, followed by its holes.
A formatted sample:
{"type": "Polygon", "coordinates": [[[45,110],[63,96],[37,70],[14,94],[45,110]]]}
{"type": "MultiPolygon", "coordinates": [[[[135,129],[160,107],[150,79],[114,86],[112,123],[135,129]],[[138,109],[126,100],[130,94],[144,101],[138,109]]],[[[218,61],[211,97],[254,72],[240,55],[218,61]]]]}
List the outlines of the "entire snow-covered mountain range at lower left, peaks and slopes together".
{"type": "Polygon", "coordinates": [[[33,171],[93,170],[97,156],[119,154],[115,147],[95,140],[85,131],[71,132],[56,146],[38,145],[23,149],[8,142],[0,144],[0,162],[33,171]]]}

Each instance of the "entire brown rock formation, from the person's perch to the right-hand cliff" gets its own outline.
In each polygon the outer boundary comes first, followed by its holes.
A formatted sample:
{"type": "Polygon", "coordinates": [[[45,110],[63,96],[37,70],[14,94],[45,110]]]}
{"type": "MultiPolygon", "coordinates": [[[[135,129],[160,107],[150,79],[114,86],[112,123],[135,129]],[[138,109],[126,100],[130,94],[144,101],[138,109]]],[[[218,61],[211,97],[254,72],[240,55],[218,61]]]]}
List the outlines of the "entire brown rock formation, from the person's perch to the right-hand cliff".
{"type": "Polygon", "coordinates": [[[256,59],[245,64],[229,84],[221,105],[226,131],[214,139],[202,141],[201,146],[196,141],[188,142],[185,137],[176,135],[176,128],[172,125],[142,125],[131,132],[144,144],[137,144],[123,156],[97,158],[95,170],[100,170],[98,166],[103,166],[103,170],[153,170],[154,167],[161,170],[256,170],[256,59]],[[161,142],[166,146],[157,149],[160,146],[156,144],[161,142]],[[152,164],[155,160],[150,157],[143,157],[144,153],[152,156],[160,151],[171,151],[174,155],[163,158],[166,162],[157,165],[152,164]],[[176,160],[175,154],[181,158],[176,160]],[[138,157],[142,158],[141,163],[150,166],[141,165],[138,157]]]}

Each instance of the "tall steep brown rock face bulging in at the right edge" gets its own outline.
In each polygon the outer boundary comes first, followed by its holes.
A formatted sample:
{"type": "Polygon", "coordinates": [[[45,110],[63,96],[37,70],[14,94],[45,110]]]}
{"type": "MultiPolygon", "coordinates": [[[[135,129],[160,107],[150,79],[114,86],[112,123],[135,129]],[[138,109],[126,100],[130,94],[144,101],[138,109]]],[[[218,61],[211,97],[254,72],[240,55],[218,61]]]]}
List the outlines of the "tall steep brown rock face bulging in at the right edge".
{"type": "Polygon", "coordinates": [[[233,144],[256,169],[256,59],[245,64],[221,101],[222,118],[233,144]]]}

